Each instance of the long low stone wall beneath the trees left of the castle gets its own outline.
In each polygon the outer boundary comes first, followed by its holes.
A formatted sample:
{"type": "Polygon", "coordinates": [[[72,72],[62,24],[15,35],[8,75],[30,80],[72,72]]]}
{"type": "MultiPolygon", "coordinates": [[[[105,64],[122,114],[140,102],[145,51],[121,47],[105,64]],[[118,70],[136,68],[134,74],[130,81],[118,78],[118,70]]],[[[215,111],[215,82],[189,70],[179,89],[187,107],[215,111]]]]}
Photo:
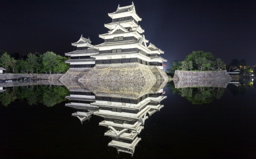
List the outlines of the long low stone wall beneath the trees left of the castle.
{"type": "Polygon", "coordinates": [[[31,79],[46,79],[59,80],[64,74],[0,74],[0,80],[31,78],[31,79]]]}

